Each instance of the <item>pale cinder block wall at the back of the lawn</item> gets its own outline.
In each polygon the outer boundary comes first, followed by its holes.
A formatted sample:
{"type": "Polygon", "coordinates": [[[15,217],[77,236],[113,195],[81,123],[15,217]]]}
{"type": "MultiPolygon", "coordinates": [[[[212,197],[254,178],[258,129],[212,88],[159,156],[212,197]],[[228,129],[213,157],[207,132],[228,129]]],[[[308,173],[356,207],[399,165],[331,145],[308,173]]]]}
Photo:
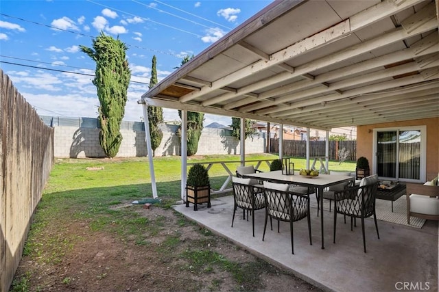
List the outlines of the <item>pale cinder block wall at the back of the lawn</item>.
{"type": "MultiPolygon", "coordinates": [[[[105,157],[99,145],[99,129],[60,126],[54,127],[54,156],[71,158],[105,157]]],[[[175,126],[161,125],[163,139],[155,155],[180,155],[180,138],[175,126]]],[[[198,144],[197,155],[239,155],[239,141],[224,135],[224,130],[205,128],[198,144]]],[[[145,131],[121,129],[123,137],[117,157],[147,156],[145,131]]],[[[263,153],[265,139],[255,137],[246,141],[246,153],[263,153]]]]}

